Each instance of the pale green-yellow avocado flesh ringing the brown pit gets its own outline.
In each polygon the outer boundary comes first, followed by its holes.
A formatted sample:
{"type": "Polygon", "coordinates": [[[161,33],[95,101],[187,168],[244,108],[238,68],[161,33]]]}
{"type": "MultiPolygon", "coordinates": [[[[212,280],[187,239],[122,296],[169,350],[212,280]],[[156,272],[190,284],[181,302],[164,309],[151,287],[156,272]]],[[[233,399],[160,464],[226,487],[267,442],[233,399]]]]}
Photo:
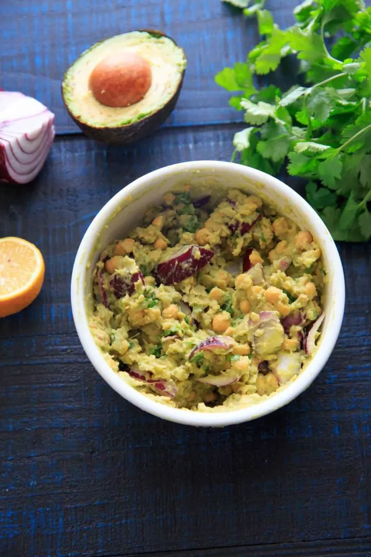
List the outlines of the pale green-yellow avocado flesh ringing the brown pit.
{"type": "Polygon", "coordinates": [[[81,124],[92,128],[116,128],[133,124],[162,109],[177,92],[185,68],[184,52],[170,38],[133,31],[96,43],[82,53],[64,76],[62,94],[72,117],[81,124]],[[120,49],[135,52],[149,62],[152,85],[135,104],[111,108],[92,95],[89,77],[99,62],[120,49]]]}

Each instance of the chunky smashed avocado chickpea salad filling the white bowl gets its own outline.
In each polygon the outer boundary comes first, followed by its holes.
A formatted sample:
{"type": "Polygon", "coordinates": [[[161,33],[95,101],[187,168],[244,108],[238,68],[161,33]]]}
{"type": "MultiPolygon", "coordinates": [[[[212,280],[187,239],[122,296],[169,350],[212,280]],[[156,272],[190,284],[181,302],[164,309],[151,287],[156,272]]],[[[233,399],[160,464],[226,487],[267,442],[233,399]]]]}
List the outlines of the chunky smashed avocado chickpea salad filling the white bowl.
{"type": "Polygon", "coordinates": [[[101,252],[90,330],[110,367],[178,408],[260,402],[297,377],[324,319],[310,232],[232,189],[167,193],[101,252]]]}

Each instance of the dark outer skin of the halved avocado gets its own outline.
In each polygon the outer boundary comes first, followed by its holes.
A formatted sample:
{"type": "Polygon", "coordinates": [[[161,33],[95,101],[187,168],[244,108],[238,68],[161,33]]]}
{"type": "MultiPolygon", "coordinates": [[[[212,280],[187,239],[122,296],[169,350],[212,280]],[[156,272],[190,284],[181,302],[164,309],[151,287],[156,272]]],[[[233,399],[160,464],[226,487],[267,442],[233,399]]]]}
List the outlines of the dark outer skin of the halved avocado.
{"type": "MultiPolygon", "coordinates": [[[[155,31],[150,29],[138,29],[138,31],[142,31],[142,32],[145,31],[155,37],[158,36],[167,37],[170,39],[170,41],[173,41],[173,43],[177,45],[177,43],[171,37],[165,35],[165,33],[161,31],[155,31]]],[[[186,56],[184,55],[184,57],[186,56]]],[[[90,126],[89,124],[81,122],[80,120],[75,118],[74,115],[71,114],[69,110],[69,106],[66,103],[63,95],[63,87],[62,87],[62,97],[70,117],[72,118],[72,120],[74,120],[75,124],[79,126],[79,128],[84,132],[85,135],[89,136],[92,139],[95,139],[96,141],[101,141],[102,143],[109,143],[113,145],[129,145],[130,143],[134,143],[134,141],[139,141],[140,139],[143,139],[147,135],[154,133],[154,131],[156,131],[159,128],[159,126],[164,123],[164,121],[168,118],[170,113],[172,113],[175,104],[177,104],[180,90],[182,89],[184,74],[185,74],[185,70],[182,73],[182,77],[179,81],[177,90],[174,92],[174,95],[171,97],[171,99],[169,99],[167,104],[165,104],[162,108],[149,114],[148,116],[144,116],[144,118],[136,122],[133,122],[132,124],[126,124],[123,126],[95,128],[94,126],[90,126]]],[[[63,82],[64,79],[62,80],[62,84],[63,82]]]]}

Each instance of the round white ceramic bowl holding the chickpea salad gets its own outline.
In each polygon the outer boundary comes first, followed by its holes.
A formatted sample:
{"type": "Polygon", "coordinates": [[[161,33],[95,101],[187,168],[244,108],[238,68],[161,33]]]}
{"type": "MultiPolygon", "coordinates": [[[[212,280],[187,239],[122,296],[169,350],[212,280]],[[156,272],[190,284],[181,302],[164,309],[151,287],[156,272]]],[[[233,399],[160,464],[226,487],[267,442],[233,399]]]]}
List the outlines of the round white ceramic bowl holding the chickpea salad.
{"type": "Polygon", "coordinates": [[[264,416],[289,403],[313,382],[328,360],[338,339],[343,320],[344,273],[335,243],[316,212],[284,183],[270,175],[239,164],[212,160],[174,164],[155,170],[117,193],[94,218],[82,238],[72,272],[71,300],[74,321],[81,344],[97,372],[122,397],[160,418],[191,426],[221,427],[264,416]],[[234,411],[212,413],[172,408],[139,393],[110,369],[97,348],[87,325],[87,300],[91,300],[91,275],[99,253],[111,241],[125,237],[141,221],[144,212],[159,204],[162,196],[180,184],[199,187],[207,184],[218,190],[239,188],[258,194],[299,226],[309,229],[319,242],[329,283],[326,291],[323,332],[313,359],[285,389],[261,403],[234,411]]]}

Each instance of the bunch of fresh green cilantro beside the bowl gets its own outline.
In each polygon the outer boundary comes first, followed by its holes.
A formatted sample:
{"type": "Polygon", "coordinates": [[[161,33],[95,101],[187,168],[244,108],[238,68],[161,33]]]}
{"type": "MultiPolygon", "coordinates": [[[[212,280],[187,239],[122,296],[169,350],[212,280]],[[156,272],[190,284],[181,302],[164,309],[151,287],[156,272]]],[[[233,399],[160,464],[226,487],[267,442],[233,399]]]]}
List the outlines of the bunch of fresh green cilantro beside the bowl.
{"type": "Polygon", "coordinates": [[[224,0],[256,14],[262,41],[216,76],[244,111],[232,160],[304,177],[306,199],[335,240],[371,237],[371,8],[362,0],[304,0],[295,25],[281,30],[265,0],[224,0]],[[298,85],[256,87],[283,58],[298,65],[298,85]],[[294,60],[294,57],[296,60],[294,60]]]}

